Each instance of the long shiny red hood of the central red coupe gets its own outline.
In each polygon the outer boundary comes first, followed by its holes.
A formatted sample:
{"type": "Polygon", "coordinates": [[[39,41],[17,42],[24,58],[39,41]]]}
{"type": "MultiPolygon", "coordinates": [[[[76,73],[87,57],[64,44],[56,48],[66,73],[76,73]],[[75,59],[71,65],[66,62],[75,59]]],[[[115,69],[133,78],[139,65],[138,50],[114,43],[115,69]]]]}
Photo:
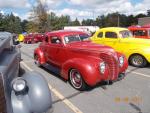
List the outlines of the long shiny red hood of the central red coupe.
{"type": "Polygon", "coordinates": [[[77,50],[77,51],[87,51],[87,52],[115,52],[114,49],[112,49],[109,46],[105,45],[100,45],[100,44],[95,44],[90,41],[83,41],[83,42],[73,42],[70,44],[67,44],[67,47],[72,49],[72,50],[77,50]]]}

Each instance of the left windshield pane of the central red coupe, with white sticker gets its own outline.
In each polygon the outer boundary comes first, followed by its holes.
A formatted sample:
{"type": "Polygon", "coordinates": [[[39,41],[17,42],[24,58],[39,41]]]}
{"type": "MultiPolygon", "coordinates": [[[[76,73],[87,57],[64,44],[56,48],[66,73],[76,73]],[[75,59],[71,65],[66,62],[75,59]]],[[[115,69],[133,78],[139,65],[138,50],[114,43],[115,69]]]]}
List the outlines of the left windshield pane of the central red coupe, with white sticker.
{"type": "Polygon", "coordinates": [[[81,41],[79,35],[69,35],[64,37],[65,43],[75,42],[75,41],[81,41]]]}

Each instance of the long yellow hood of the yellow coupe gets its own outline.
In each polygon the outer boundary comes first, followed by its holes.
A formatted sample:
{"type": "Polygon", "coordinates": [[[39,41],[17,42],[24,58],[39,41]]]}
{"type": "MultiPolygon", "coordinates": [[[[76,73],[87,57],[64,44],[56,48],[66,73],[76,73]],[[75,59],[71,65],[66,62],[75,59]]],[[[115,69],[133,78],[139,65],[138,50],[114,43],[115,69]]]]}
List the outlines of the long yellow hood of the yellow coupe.
{"type": "Polygon", "coordinates": [[[125,38],[122,39],[121,42],[126,42],[130,44],[142,44],[150,46],[150,39],[141,39],[141,38],[125,38]]]}

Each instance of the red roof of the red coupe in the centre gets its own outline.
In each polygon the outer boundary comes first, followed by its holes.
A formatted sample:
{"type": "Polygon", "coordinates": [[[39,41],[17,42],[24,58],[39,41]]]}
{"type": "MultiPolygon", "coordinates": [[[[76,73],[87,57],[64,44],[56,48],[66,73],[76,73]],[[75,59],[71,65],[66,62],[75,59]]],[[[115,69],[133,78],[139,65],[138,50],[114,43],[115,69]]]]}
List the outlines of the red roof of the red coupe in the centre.
{"type": "Polygon", "coordinates": [[[71,35],[71,34],[87,34],[82,31],[74,31],[74,30],[58,30],[58,31],[52,31],[47,32],[46,35],[58,35],[58,36],[65,36],[65,35],[71,35]]]}

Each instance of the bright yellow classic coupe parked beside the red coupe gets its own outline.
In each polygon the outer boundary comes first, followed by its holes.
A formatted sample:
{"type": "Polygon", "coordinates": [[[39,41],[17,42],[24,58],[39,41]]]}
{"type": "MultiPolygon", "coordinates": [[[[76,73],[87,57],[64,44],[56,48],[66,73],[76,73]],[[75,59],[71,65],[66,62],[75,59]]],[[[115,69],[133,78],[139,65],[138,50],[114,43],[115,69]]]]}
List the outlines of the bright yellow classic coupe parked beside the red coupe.
{"type": "Polygon", "coordinates": [[[128,58],[129,64],[145,67],[150,63],[150,39],[133,38],[126,28],[107,27],[99,29],[90,39],[98,44],[111,46],[128,58]]]}

